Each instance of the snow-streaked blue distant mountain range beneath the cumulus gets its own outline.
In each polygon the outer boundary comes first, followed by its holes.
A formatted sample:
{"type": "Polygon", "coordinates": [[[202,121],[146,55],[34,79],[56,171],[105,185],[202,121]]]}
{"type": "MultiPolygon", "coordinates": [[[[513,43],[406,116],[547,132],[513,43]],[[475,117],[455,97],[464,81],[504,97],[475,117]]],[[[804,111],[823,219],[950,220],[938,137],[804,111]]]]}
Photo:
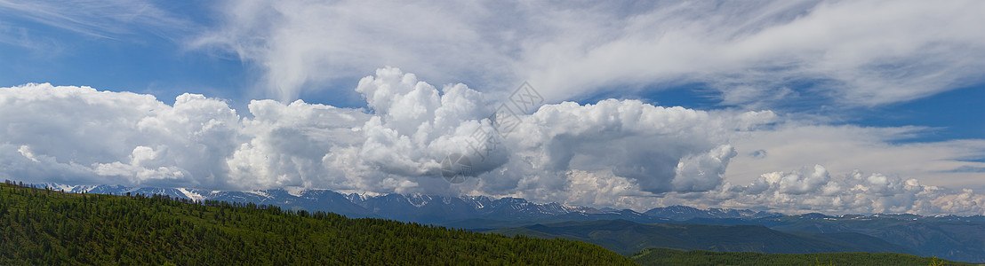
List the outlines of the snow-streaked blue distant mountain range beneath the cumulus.
{"type": "Polygon", "coordinates": [[[523,198],[487,196],[438,196],[426,194],[365,195],[327,189],[260,189],[223,191],[197,188],[140,187],[119,185],[70,186],[36,184],[71,192],[101,194],[163,194],[192,200],[226,200],[272,204],[308,211],[328,211],[349,217],[373,217],[405,222],[436,223],[461,228],[483,228],[504,221],[539,222],[624,219],[639,223],[666,223],[697,218],[756,219],[782,216],[779,213],[735,209],[696,209],[688,206],[658,207],[640,213],[629,209],[592,208],[557,202],[536,203],[523,198]],[[471,222],[463,222],[471,221],[471,222]]]}

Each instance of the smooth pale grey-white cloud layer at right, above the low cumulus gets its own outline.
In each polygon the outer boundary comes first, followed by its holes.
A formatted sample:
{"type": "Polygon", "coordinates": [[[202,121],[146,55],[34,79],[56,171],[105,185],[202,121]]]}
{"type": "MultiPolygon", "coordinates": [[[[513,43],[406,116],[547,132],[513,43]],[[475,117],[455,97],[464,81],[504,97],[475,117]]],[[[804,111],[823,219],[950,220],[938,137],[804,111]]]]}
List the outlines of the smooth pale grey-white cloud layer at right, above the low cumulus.
{"type": "Polygon", "coordinates": [[[981,161],[985,157],[985,140],[906,141],[932,130],[792,121],[771,131],[736,135],[731,143],[745,152],[736,156],[727,175],[746,183],[762,173],[823,162],[834,173],[864,169],[898,174],[934,186],[981,188],[981,173],[970,170],[985,167],[981,161]]]}

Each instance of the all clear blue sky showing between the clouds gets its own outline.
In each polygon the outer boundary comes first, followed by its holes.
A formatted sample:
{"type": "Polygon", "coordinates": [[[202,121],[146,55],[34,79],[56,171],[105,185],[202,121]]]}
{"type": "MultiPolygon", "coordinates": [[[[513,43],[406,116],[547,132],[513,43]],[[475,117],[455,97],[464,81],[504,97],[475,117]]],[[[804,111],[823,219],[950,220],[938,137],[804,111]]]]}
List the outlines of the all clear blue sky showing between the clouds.
{"type": "MultiPolygon", "coordinates": [[[[208,30],[219,27],[216,17],[221,5],[196,1],[148,3],[161,8],[176,18],[194,25],[195,29],[208,30]]],[[[258,82],[255,62],[242,61],[234,54],[214,49],[189,48],[187,41],[201,32],[158,29],[146,25],[120,25],[122,29],[86,27],[86,18],[79,22],[43,23],[44,18],[31,18],[7,8],[0,21],[3,36],[15,41],[0,45],[0,54],[8,64],[2,66],[5,75],[0,83],[5,86],[28,82],[51,82],[63,85],[88,85],[104,90],[134,91],[154,94],[164,102],[173,102],[181,93],[191,92],[220,97],[236,104],[250,99],[264,98],[253,91],[258,82]],[[75,27],[82,27],[82,29],[75,27]],[[122,31],[122,32],[113,32],[122,31]],[[30,40],[30,43],[18,42],[30,40]],[[13,43],[12,43],[13,42],[13,43]]],[[[188,28],[188,29],[192,29],[188,28]]],[[[340,97],[335,90],[347,90],[361,77],[348,77],[331,83],[315,84],[313,91],[302,91],[298,98],[307,102],[324,103],[340,107],[364,107],[356,95],[340,97]],[[331,92],[325,89],[333,90],[331,92]]],[[[974,78],[974,77],[972,77],[974,78]]],[[[457,81],[470,80],[462,78],[457,81]]],[[[977,78],[981,80],[981,78],[977,78]]],[[[452,80],[455,81],[455,80],[452,80]]],[[[456,81],[456,82],[457,82],[456,81]]],[[[948,91],[931,93],[912,100],[892,102],[872,107],[849,110],[825,110],[836,99],[810,93],[815,84],[792,83],[801,95],[787,97],[769,107],[785,112],[803,112],[837,117],[841,123],[875,126],[924,126],[933,131],[909,140],[946,140],[952,138],[979,138],[985,134],[985,83],[973,82],[966,86],[948,88],[948,91]],[[800,87],[798,87],[800,86],[800,87]]],[[[632,84],[642,88],[620,90],[618,84],[601,86],[608,88],[595,94],[581,95],[562,100],[592,103],[604,98],[638,98],[665,106],[684,106],[695,109],[730,108],[724,104],[721,92],[709,89],[704,83],[632,84]],[[607,91],[611,90],[611,91],[607,91]]],[[[480,88],[483,89],[483,88],[480,88]]],[[[343,92],[345,93],[345,92],[343,92]]]]}

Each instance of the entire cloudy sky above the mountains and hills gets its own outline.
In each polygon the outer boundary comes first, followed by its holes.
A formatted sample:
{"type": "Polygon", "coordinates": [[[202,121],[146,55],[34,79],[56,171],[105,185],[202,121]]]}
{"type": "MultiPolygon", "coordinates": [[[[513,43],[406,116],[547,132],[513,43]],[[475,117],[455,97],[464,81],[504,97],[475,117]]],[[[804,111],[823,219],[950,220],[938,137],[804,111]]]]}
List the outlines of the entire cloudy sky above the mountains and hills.
{"type": "Polygon", "coordinates": [[[981,14],[0,0],[0,177],[983,215],[981,14]]]}

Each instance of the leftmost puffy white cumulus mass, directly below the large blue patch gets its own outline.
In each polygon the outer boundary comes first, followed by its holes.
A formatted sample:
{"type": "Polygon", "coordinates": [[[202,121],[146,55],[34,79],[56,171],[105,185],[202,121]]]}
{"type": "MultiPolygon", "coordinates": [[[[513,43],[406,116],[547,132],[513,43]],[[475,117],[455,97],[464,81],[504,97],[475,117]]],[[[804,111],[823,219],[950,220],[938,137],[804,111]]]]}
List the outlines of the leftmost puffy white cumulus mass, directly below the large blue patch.
{"type": "Polygon", "coordinates": [[[223,101],[183,94],[170,106],[151,95],[43,83],[3,88],[0,102],[3,144],[23,155],[0,159],[37,168],[2,173],[11,179],[226,185],[217,162],[230,155],[239,118],[223,101]]]}

